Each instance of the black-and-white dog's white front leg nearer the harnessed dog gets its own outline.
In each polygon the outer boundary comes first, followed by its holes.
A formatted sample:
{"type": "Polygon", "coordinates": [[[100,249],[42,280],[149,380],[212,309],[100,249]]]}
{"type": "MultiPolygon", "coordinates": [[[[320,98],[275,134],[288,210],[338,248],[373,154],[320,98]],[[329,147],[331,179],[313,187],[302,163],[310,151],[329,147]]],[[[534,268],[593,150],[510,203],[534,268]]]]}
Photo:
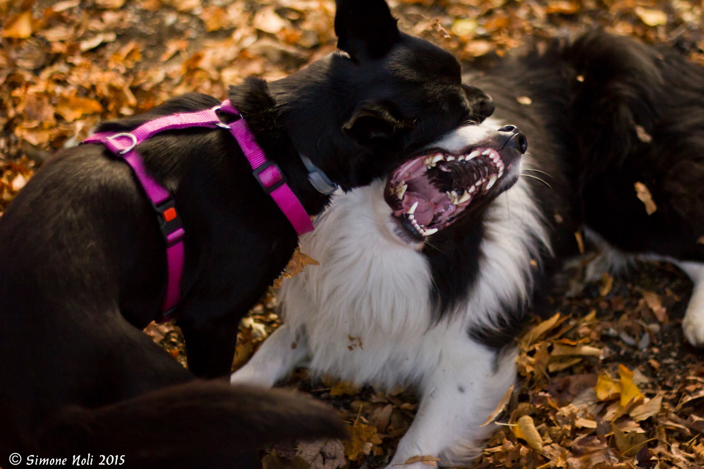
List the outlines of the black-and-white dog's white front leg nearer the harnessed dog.
{"type": "Polygon", "coordinates": [[[305,333],[288,324],[279,327],[264,341],[249,362],[232,373],[232,383],[251,383],[271,387],[308,357],[305,333]]]}

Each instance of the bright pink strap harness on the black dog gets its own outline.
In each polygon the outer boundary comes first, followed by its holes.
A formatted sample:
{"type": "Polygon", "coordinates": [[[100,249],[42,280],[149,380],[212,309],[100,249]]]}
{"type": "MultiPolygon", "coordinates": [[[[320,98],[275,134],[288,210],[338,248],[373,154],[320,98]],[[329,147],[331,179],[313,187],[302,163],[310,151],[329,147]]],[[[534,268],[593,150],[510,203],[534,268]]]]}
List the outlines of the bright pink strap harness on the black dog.
{"type": "MultiPolygon", "coordinates": [[[[221,105],[212,109],[201,110],[196,113],[158,117],[130,132],[121,134],[99,132],[89,136],[83,143],[103,143],[108,150],[122,157],[132,167],[134,174],[144,188],[144,192],[151,200],[151,205],[159,214],[161,233],[163,233],[166,240],[166,261],[168,264],[166,295],[161,305],[164,321],[168,321],[170,314],[181,299],[181,278],[184,266],[183,238],[186,232],[183,229],[181,217],[176,211],[172,195],[165,187],[158,184],[153,177],[147,174],[146,169],[144,169],[144,162],[142,162],[142,156],[139,155],[136,147],[139,143],[158,134],[158,132],[185,129],[187,127],[222,127],[223,129],[229,129],[249,161],[252,167],[252,174],[262,186],[264,192],[271,195],[276,205],[284,212],[291,225],[296,229],[298,236],[308,233],[308,231],[313,231],[310,217],[308,217],[306,210],[291,191],[291,188],[286,184],[284,174],[282,174],[275,162],[267,160],[264,151],[258,146],[253,134],[249,131],[244,118],[232,106],[230,100],[223,101],[221,105]],[[231,124],[225,124],[220,121],[220,117],[215,113],[216,110],[238,115],[240,118],[231,124]]],[[[320,176],[316,171],[312,171],[310,174],[314,174],[316,177],[320,176]]],[[[310,174],[309,179],[311,179],[310,174]]],[[[322,174],[322,176],[325,177],[325,174],[322,174]]],[[[327,178],[325,179],[327,180],[327,178]]],[[[327,181],[329,182],[329,180],[327,181]]]]}

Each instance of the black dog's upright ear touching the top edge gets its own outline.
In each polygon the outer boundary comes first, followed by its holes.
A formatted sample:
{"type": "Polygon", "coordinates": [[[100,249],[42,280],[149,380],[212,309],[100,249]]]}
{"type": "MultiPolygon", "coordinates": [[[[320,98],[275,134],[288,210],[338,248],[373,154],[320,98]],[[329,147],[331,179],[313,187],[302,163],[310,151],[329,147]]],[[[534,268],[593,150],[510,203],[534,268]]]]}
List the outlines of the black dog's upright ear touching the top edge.
{"type": "Polygon", "coordinates": [[[396,18],[384,0],[336,0],[337,48],[355,63],[376,60],[399,41],[396,18]]]}

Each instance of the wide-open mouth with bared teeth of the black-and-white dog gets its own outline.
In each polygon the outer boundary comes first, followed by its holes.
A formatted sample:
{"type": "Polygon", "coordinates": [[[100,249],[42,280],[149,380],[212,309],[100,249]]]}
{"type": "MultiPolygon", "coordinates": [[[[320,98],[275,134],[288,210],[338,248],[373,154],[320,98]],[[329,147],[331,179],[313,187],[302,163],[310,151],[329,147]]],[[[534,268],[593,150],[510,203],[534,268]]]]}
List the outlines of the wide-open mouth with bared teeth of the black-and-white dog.
{"type": "Polygon", "coordinates": [[[394,216],[418,238],[452,224],[474,200],[501,179],[506,163],[487,146],[460,153],[432,150],[394,171],[384,198],[394,216]]]}

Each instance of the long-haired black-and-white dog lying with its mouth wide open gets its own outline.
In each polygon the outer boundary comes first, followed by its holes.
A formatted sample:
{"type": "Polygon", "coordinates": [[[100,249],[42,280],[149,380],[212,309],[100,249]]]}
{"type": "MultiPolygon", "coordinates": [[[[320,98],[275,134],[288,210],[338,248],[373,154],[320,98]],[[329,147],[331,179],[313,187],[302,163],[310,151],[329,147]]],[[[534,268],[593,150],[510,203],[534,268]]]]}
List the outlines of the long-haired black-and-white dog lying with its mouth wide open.
{"type": "Polygon", "coordinates": [[[284,283],[284,325],[232,375],[270,386],[307,366],[416,385],[420,409],[389,467],[477,456],[490,431],[480,425],[516,379],[517,330],[577,254],[580,227],[601,245],[595,266],[638,255],[682,266],[696,284],[686,337],[704,342],[704,70],[665,47],[592,32],[465,79],[494,98],[493,117],[336,195],[303,238],[320,266],[284,283]],[[524,139],[507,124],[529,141],[522,157],[524,139]]]}

